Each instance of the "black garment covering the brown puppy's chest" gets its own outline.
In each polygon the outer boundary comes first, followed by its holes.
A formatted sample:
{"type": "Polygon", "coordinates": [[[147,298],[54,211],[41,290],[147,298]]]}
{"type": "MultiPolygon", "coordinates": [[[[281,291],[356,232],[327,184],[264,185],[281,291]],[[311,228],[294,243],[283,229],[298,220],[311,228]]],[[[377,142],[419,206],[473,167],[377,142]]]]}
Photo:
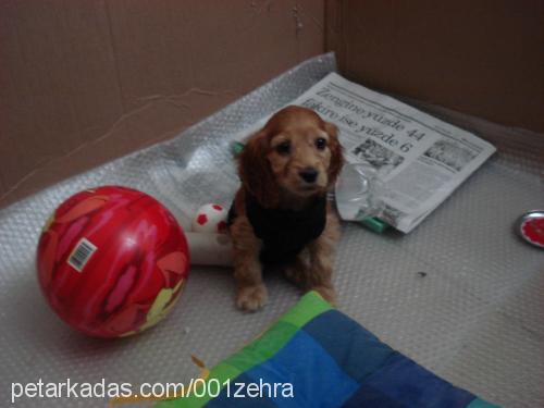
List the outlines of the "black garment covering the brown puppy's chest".
{"type": "MultiPolygon", "coordinates": [[[[300,211],[262,207],[246,191],[246,215],[255,235],[262,240],[260,260],[279,264],[295,260],[308,243],[318,238],[326,223],[326,197],[318,197],[300,211]]],[[[228,225],[236,218],[234,202],[228,210],[228,225]]]]}

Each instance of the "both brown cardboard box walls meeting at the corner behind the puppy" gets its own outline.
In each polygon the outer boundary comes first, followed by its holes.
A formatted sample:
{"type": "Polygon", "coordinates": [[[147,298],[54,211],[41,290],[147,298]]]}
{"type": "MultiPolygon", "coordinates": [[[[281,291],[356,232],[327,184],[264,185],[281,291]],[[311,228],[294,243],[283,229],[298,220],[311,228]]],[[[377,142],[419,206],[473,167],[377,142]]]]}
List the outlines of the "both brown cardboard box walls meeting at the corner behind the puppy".
{"type": "Polygon", "coordinates": [[[0,207],[325,50],[379,90],[542,133],[543,3],[3,0],[0,207]]]}

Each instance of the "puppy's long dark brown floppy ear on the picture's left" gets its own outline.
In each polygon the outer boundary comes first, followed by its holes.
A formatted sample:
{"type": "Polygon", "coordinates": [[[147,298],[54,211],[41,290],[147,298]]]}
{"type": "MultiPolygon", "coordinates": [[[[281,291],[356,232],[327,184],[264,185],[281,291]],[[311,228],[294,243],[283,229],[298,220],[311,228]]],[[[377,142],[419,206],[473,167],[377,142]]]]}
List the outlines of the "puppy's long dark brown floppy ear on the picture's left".
{"type": "Polygon", "coordinates": [[[246,190],[257,198],[262,207],[275,207],[279,187],[267,158],[269,150],[265,128],[251,136],[238,157],[238,174],[246,190]]]}

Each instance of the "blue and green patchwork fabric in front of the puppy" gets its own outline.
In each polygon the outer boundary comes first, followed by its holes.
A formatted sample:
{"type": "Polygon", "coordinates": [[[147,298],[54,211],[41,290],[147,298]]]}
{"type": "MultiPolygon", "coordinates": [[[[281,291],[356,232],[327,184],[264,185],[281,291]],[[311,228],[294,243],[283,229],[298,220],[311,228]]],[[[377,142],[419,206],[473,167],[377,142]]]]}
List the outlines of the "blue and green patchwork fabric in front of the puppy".
{"type": "Polygon", "coordinates": [[[314,292],[206,381],[158,407],[495,407],[393,350],[314,292]]]}

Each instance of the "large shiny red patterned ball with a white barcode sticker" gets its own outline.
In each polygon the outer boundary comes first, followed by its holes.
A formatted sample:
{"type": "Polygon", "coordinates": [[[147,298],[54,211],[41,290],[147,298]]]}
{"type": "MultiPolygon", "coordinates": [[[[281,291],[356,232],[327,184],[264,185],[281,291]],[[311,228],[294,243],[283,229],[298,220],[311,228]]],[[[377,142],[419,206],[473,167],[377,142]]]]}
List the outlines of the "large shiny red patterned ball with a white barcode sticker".
{"type": "Polygon", "coordinates": [[[74,329],[120,337],[159,322],[189,272],[187,240],[151,196],[101,186],[62,202],[44,227],[38,280],[51,308],[74,329]]]}

